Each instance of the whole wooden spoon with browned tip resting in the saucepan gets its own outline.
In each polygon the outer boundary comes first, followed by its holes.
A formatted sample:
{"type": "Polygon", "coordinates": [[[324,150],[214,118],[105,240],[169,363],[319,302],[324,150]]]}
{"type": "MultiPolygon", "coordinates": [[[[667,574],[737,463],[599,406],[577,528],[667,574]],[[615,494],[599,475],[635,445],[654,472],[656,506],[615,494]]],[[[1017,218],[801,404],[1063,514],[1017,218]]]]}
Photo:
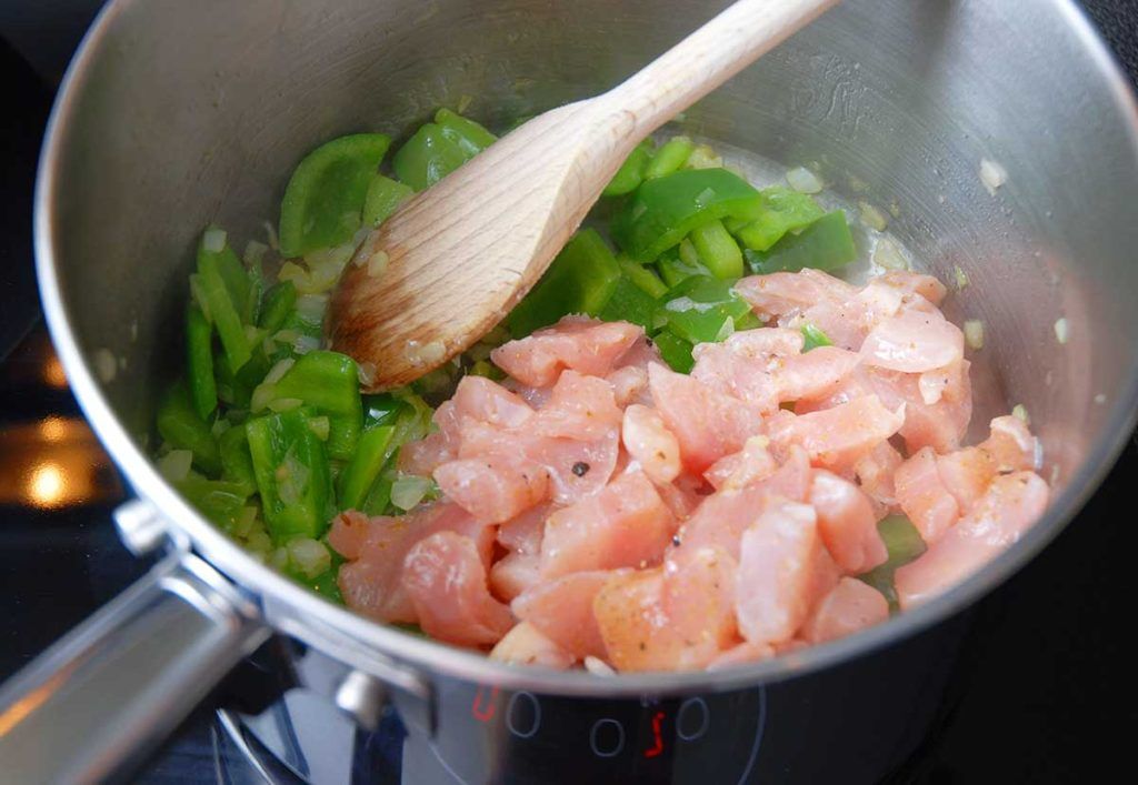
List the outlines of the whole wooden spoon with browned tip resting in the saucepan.
{"type": "Polygon", "coordinates": [[[328,313],[369,391],[468,348],[537,282],[654,130],[839,0],[740,0],[609,92],[538,115],[364,240],[328,313]]]}

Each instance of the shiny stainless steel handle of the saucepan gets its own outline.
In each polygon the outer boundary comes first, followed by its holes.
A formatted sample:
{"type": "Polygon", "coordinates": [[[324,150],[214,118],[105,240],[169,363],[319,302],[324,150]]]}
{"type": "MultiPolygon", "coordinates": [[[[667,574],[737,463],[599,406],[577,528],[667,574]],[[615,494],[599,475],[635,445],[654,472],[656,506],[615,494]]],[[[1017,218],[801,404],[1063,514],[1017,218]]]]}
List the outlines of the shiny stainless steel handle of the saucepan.
{"type": "Polygon", "coordinates": [[[269,634],[212,567],[171,554],[0,686],[0,779],[126,774],[269,634]]]}

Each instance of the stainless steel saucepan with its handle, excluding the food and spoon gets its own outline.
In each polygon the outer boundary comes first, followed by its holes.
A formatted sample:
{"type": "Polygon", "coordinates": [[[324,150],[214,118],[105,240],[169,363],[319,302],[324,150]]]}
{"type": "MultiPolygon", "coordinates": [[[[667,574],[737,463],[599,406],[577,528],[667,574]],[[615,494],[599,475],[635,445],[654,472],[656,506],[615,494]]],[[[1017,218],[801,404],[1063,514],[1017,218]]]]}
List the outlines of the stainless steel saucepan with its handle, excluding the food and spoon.
{"type": "Polygon", "coordinates": [[[405,134],[463,97],[470,114],[501,125],[596,93],[725,5],[106,6],[43,147],[39,278],[73,389],[138,496],[116,515],[123,538],[163,555],[0,691],[5,778],[122,770],[271,636],[322,658],[307,686],[355,721],[374,722],[390,697],[427,734],[438,732],[445,679],[607,697],[798,679],[883,656],[991,590],[1072,520],[1138,403],[1138,114],[1070,0],[848,0],[684,121],[894,206],[891,230],[933,272],[966,273],[953,300],[956,315],[987,325],[976,379],[1030,412],[1057,493],[1020,543],[934,602],[793,658],[718,672],[603,678],[505,667],[307,593],[226,539],[155,471],[154,402],[182,356],[179,315],[204,225],[261,234],[292,166],[331,137],[405,134]],[[998,189],[980,176],[986,160],[1007,173],[998,189]]]}

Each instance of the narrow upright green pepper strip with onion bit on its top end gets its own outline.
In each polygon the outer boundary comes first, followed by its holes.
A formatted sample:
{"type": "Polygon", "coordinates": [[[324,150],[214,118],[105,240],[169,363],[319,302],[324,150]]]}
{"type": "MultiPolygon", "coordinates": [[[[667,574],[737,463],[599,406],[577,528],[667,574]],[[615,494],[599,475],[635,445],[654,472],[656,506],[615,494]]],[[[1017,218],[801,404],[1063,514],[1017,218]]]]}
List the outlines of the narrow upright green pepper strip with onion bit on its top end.
{"type": "Polygon", "coordinates": [[[249,362],[251,347],[245,333],[242,314],[247,313],[248,304],[240,299],[247,297],[248,289],[242,290],[238,283],[240,276],[249,280],[245,268],[237,259],[232,249],[225,246],[220,251],[206,248],[205,239],[198,245],[198,272],[195,276],[195,295],[200,298],[198,306],[201,313],[213,322],[225,350],[225,360],[231,371],[238,371],[249,362]],[[236,270],[234,270],[236,265],[236,270]]]}

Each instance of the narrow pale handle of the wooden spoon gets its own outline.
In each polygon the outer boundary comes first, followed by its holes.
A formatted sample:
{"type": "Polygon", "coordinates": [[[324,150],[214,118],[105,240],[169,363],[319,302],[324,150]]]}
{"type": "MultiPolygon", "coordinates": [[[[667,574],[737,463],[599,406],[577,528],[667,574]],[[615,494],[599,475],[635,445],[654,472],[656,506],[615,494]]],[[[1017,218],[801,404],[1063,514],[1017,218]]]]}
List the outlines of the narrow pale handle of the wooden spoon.
{"type": "Polygon", "coordinates": [[[739,0],[601,100],[636,143],[838,2],[739,0]]]}

